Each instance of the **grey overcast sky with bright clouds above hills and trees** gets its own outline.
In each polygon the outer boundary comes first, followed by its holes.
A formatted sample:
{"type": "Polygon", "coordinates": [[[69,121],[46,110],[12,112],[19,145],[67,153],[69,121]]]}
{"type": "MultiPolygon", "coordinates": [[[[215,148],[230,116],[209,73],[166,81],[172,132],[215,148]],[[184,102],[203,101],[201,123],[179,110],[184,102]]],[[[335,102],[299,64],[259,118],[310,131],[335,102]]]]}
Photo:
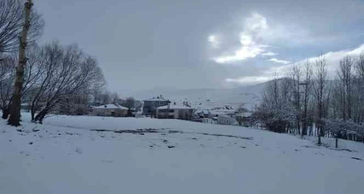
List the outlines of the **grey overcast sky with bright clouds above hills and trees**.
{"type": "Polygon", "coordinates": [[[232,88],[364,50],[364,1],[36,0],[42,43],[77,43],[120,96],[232,88]]]}

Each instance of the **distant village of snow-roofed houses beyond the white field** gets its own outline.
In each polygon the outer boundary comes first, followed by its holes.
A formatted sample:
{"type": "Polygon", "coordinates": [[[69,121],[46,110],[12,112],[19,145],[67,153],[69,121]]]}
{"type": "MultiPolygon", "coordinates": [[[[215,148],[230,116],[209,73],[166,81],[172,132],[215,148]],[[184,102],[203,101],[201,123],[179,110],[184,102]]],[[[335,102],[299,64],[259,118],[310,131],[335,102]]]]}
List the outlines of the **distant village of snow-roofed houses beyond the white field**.
{"type": "Polygon", "coordinates": [[[106,117],[150,117],[156,119],[181,119],[201,123],[221,125],[249,125],[252,113],[244,108],[215,107],[194,108],[189,102],[172,102],[162,95],[143,101],[134,101],[133,106],[125,107],[122,103],[90,106],[90,114],[106,117]]]}

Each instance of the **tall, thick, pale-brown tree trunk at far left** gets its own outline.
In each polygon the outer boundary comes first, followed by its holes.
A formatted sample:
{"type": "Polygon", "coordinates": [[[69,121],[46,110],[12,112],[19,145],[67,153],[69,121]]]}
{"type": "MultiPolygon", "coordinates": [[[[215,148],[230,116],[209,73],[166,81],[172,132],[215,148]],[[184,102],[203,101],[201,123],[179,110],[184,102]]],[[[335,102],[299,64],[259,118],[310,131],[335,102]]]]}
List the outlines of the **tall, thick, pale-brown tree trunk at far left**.
{"type": "Polygon", "coordinates": [[[19,43],[19,62],[16,72],[15,84],[14,84],[14,92],[12,99],[12,106],[10,110],[10,117],[8,120],[8,124],[19,126],[20,125],[20,106],[22,103],[22,88],[23,88],[23,77],[24,77],[24,68],[27,63],[25,50],[27,48],[27,35],[30,27],[30,13],[32,10],[32,0],[28,0],[24,4],[24,24],[22,36],[20,38],[19,43]]]}

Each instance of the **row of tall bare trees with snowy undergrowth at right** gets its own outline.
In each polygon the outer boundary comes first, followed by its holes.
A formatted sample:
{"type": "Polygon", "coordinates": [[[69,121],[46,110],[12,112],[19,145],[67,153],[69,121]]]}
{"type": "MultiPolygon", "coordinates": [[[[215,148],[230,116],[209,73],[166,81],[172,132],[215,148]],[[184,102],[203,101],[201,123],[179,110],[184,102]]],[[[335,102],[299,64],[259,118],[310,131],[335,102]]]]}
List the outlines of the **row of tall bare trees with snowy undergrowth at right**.
{"type": "Polygon", "coordinates": [[[364,52],[341,59],[331,78],[323,55],[294,64],[267,84],[253,120],[277,132],[316,135],[318,144],[321,136],[364,141],[364,52]]]}

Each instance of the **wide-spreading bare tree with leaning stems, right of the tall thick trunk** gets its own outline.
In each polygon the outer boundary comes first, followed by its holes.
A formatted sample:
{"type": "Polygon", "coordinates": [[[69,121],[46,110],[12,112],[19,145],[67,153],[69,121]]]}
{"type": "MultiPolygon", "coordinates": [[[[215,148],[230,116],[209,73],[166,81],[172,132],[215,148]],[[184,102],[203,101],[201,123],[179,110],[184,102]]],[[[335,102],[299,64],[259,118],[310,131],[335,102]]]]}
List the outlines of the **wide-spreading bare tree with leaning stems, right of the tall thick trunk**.
{"type": "Polygon", "coordinates": [[[95,59],[85,55],[76,45],[62,46],[53,42],[42,47],[36,72],[42,72],[37,84],[29,89],[32,121],[42,123],[55,108],[70,99],[88,95],[100,73],[95,59]],[[37,107],[42,109],[36,114],[37,107]],[[35,115],[36,114],[36,115],[35,115]]]}

